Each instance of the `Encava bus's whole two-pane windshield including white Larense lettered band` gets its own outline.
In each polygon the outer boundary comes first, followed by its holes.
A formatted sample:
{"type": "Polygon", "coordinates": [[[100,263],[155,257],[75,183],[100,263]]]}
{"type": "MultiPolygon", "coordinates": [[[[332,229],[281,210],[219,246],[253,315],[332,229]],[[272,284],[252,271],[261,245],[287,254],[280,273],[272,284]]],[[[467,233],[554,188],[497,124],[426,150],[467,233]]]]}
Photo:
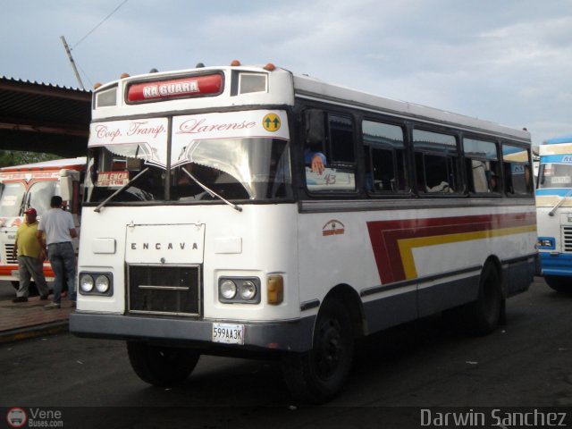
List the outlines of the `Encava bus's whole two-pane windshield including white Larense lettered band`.
{"type": "Polygon", "coordinates": [[[291,196],[285,112],[192,114],[91,124],[86,202],[291,196]]]}

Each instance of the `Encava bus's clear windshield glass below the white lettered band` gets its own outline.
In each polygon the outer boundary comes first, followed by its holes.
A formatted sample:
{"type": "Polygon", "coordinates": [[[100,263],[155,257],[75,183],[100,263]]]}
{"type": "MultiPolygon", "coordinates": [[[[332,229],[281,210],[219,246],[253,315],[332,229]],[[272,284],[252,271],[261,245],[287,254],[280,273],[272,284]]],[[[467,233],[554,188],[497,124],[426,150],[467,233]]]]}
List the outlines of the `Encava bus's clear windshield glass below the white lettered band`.
{"type": "Polygon", "coordinates": [[[203,186],[227,200],[291,195],[289,145],[284,139],[194,140],[172,156],[172,166],[166,169],[156,162],[153,147],[139,143],[91,148],[86,202],[104,201],[122,187],[110,203],[216,199],[203,186]]]}

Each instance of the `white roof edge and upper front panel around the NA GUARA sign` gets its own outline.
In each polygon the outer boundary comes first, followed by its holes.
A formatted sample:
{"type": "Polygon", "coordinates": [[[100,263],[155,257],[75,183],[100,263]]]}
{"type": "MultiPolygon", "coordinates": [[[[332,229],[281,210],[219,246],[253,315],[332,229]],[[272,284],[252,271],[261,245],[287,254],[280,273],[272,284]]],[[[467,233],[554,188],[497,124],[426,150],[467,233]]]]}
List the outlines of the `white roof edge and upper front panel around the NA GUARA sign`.
{"type": "Polygon", "coordinates": [[[212,73],[224,74],[224,88],[221,97],[197,97],[193,98],[192,109],[189,109],[189,100],[185,98],[165,100],[160,108],[161,112],[177,112],[189,110],[212,109],[216,107],[232,107],[237,105],[293,105],[294,98],[327,101],[336,105],[356,107],[365,111],[378,114],[389,114],[399,118],[415,119],[420,122],[453,125],[462,130],[473,130],[486,133],[495,137],[507,137],[517,139],[530,144],[530,133],[527,130],[517,130],[498,123],[484,121],[463,114],[453,114],[441,109],[416,105],[413,103],[396,101],[390,98],[379,97],[356,89],[346,88],[332,83],[317,80],[307,75],[293,74],[291,71],[276,68],[273,71],[265,70],[263,65],[253,66],[221,66],[203,67],[198,69],[164,71],[147,73],[144,75],[130,76],[121,80],[109,82],[94,91],[97,94],[118,87],[117,104],[104,108],[96,108],[92,117],[94,120],[104,120],[114,116],[131,116],[149,114],[152,107],[158,108],[156,103],[132,104],[127,112],[122,107],[126,105],[122,99],[125,88],[138,82],[154,82],[171,80],[181,76],[202,76],[212,73]],[[235,74],[233,74],[235,73],[235,74]],[[268,87],[271,91],[238,94],[231,96],[231,81],[233,76],[240,73],[266,73],[268,75],[268,87]],[[292,94],[293,88],[293,94],[292,94]]]}

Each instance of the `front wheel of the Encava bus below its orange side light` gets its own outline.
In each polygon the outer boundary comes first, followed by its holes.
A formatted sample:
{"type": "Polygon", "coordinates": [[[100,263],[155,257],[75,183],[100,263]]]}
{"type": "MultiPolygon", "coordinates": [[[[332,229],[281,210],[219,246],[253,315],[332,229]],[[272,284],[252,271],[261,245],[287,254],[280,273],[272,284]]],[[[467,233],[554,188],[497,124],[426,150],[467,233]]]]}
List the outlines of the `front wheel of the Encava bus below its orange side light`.
{"type": "Polygon", "coordinates": [[[313,344],[305,353],[285,354],[282,371],[294,398],[323,404],[340,393],[353,360],[351,320],[341,302],[324,303],[315,321],[313,344]]]}

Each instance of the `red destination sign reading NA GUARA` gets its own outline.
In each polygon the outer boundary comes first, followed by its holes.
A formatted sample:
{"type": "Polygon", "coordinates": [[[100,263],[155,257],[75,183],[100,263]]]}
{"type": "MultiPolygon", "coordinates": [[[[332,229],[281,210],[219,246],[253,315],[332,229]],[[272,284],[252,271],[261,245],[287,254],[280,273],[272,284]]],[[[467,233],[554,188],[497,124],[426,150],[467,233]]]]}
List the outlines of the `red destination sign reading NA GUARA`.
{"type": "Polygon", "coordinates": [[[164,98],[199,97],[218,94],[222,90],[223,77],[220,74],[209,74],[193,78],[136,83],[129,87],[127,101],[145,102],[164,98]]]}

